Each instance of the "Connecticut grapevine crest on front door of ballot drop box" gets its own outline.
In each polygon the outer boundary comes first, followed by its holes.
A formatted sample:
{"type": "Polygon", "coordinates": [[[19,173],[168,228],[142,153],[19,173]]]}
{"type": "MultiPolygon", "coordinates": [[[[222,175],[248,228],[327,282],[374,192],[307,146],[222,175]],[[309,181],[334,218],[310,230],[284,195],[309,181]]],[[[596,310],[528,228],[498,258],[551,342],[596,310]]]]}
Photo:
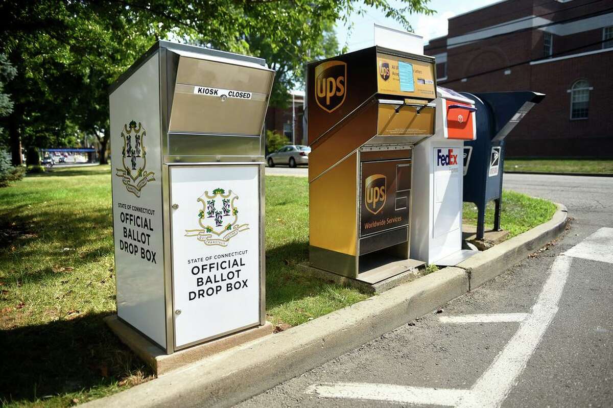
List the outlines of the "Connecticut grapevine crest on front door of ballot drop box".
{"type": "Polygon", "coordinates": [[[202,203],[198,212],[200,229],[185,230],[185,236],[196,236],[209,246],[227,246],[234,236],[249,229],[249,224],[239,222],[238,195],[234,191],[216,188],[211,194],[205,191],[197,201],[202,203]]]}

